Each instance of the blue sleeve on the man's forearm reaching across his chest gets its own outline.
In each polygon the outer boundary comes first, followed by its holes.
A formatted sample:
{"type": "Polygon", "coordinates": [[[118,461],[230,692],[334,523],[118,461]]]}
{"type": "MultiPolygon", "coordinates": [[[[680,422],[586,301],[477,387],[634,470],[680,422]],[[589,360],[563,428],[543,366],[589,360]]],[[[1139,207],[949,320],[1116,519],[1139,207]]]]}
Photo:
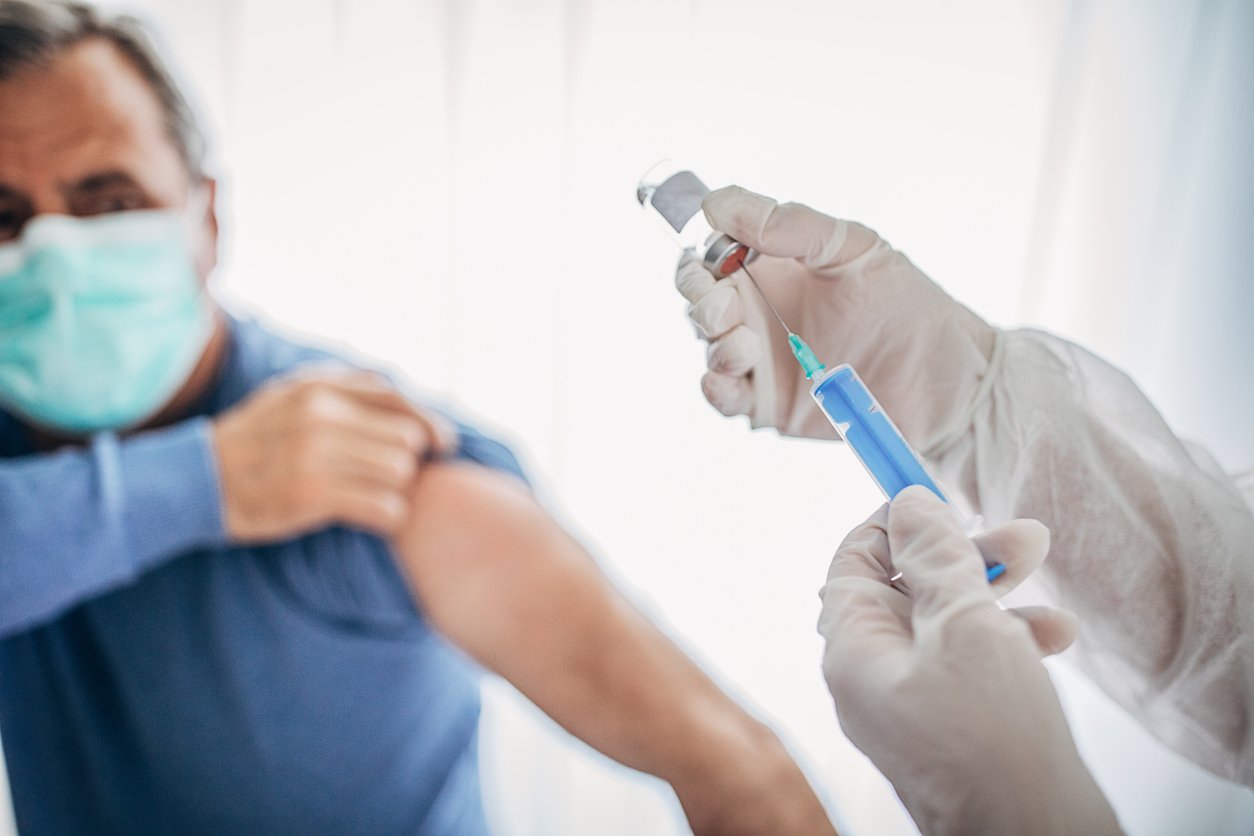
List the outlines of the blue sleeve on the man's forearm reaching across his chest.
{"type": "Polygon", "coordinates": [[[207,419],[0,460],[0,637],[226,539],[207,419]]]}

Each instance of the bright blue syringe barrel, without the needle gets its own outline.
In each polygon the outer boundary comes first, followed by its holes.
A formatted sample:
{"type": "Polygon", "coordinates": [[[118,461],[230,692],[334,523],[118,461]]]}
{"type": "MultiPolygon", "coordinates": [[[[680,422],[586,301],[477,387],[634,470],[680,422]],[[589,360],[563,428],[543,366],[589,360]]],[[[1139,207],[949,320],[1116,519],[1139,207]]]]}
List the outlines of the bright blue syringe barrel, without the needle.
{"type": "Polygon", "coordinates": [[[810,395],[885,498],[892,500],[910,485],[923,485],[949,501],[851,366],[826,371],[810,387],[810,395]]]}

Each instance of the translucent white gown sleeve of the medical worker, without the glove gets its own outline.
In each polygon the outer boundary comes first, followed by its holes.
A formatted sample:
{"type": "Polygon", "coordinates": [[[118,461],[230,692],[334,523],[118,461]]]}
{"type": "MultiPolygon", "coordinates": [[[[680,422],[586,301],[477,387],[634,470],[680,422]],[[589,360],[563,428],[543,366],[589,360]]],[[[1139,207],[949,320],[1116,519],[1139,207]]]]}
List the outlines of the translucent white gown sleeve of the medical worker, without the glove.
{"type": "Polygon", "coordinates": [[[1041,580],[1081,619],[1071,658],[1159,739],[1254,786],[1254,479],[1038,331],[998,336],[964,412],[928,459],[988,524],[1050,528],[1041,580]]]}

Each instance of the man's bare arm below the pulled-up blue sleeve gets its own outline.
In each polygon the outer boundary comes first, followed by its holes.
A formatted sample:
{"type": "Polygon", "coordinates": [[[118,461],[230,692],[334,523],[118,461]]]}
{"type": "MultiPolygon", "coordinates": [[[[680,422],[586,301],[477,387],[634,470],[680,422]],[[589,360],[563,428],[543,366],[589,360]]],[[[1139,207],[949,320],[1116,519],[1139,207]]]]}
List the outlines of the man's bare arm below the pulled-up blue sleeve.
{"type": "Polygon", "coordinates": [[[775,734],[628,604],[514,478],[433,465],[394,548],[439,630],[576,737],[668,781],[696,832],[834,832],[775,734]]]}

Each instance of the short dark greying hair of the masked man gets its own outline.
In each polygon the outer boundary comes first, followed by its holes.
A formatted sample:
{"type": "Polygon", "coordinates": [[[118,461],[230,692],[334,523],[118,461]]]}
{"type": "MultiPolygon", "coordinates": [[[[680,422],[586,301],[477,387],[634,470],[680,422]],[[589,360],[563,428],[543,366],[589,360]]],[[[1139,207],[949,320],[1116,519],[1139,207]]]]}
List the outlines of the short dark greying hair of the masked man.
{"type": "Polygon", "coordinates": [[[162,60],[148,29],[130,15],[69,0],[0,0],[0,81],[51,61],[75,44],[102,38],[148,81],[161,104],[166,132],[193,178],[204,177],[207,143],[183,91],[162,60]]]}

